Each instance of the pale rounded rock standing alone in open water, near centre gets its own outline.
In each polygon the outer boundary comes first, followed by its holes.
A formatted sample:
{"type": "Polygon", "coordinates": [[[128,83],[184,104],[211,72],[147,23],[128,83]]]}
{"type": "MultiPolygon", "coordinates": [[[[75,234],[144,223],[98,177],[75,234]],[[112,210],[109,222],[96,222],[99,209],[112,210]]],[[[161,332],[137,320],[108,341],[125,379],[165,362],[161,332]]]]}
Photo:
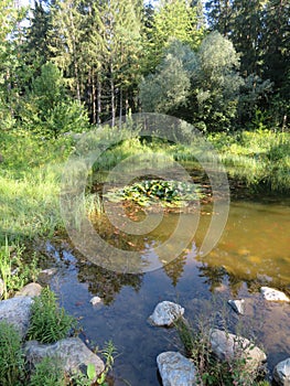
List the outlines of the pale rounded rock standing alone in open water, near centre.
{"type": "Polygon", "coordinates": [[[182,317],[184,308],[171,301],[158,303],[149,321],[154,325],[171,325],[175,320],[182,317]]]}

